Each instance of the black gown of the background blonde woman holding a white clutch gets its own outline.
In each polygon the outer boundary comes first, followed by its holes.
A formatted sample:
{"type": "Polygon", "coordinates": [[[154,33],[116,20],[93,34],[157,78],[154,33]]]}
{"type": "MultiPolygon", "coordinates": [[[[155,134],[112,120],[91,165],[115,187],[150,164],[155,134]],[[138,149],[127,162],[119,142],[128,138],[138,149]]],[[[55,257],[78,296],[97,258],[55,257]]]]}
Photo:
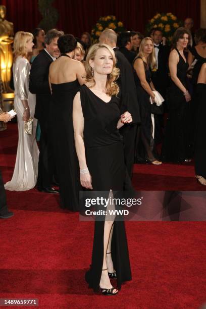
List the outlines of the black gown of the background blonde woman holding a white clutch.
{"type": "MultiPolygon", "coordinates": [[[[141,57],[137,57],[141,59],[141,57]]],[[[143,61],[143,60],[142,60],[143,61]]],[[[149,67],[144,64],[144,71],[147,83],[150,85],[151,82],[151,72],[149,67]]],[[[155,149],[155,142],[152,137],[152,121],[151,121],[151,104],[149,102],[150,95],[144,90],[141,86],[140,80],[137,76],[136,71],[134,70],[134,80],[137,89],[137,98],[140,107],[140,116],[141,116],[141,126],[137,129],[137,138],[136,138],[136,161],[138,160],[149,160],[155,161],[158,159],[158,154],[155,149]]]]}

